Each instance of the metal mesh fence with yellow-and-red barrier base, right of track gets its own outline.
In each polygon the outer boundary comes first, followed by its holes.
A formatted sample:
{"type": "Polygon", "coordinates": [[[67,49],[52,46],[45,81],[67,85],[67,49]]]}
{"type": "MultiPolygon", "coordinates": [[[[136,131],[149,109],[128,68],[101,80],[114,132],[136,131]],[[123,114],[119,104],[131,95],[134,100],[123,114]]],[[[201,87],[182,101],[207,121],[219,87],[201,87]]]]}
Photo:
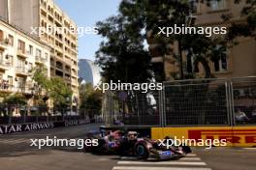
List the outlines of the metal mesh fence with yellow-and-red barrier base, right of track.
{"type": "Polygon", "coordinates": [[[151,128],[153,139],[226,139],[228,146],[256,147],[256,77],[168,81],[162,91],[106,97],[108,127],[151,128]]]}

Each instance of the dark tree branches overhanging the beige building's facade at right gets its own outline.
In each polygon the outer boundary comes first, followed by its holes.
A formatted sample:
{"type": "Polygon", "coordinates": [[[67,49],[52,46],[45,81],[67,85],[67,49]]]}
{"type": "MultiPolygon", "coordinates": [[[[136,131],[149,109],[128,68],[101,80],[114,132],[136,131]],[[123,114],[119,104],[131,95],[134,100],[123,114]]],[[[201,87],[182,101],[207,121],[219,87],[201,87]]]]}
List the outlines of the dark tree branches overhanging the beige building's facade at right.
{"type": "MultiPolygon", "coordinates": [[[[179,67],[179,79],[186,78],[184,75],[184,66],[182,53],[187,53],[186,60],[195,57],[194,65],[201,63],[205,69],[205,77],[211,77],[211,72],[208,66],[208,60],[216,60],[214,57],[222,55],[223,50],[217,50],[217,45],[224,45],[221,48],[226,48],[224,39],[213,39],[202,35],[170,35],[165,37],[159,35],[159,27],[182,27],[196,26],[195,18],[193,18],[194,5],[190,0],[123,0],[119,7],[119,12],[126,16],[130,24],[138,25],[141,29],[140,33],[144,34],[144,38],[150,44],[154,44],[155,51],[159,56],[163,57],[164,61],[168,62],[165,56],[174,56],[179,67]],[[144,30],[144,31],[143,31],[144,30]],[[172,49],[172,45],[176,43],[178,50],[172,49]],[[218,44],[219,43],[219,44],[218,44]]],[[[164,62],[160,66],[154,66],[156,79],[162,81],[165,79],[164,62]]],[[[189,77],[191,78],[191,76],[189,77]]]]}

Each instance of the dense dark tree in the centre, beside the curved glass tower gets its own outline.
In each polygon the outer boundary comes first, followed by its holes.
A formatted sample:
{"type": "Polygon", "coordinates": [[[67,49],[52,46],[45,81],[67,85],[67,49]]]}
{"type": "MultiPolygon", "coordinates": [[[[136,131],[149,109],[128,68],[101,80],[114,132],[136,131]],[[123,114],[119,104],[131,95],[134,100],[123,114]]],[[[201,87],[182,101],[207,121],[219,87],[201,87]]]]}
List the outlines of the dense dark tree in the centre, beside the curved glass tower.
{"type": "Polygon", "coordinates": [[[140,29],[123,15],[97,23],[101,42],[96,59],[107,82],[146,82],[151,77],[150,55],[140,29]]]}

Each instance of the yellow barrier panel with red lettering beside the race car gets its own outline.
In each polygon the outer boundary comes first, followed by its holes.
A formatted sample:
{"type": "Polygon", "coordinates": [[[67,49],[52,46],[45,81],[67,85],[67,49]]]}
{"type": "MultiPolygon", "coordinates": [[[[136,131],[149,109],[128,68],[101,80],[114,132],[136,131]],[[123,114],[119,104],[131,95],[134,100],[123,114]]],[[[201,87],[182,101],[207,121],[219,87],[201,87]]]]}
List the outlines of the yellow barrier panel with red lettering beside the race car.
{"type": "Polygon", "coordinates": [[[177,139],[225,139],[227,146],[256,147],[256,127],[151,128],[153,139],[172,136],[177,139]]]}

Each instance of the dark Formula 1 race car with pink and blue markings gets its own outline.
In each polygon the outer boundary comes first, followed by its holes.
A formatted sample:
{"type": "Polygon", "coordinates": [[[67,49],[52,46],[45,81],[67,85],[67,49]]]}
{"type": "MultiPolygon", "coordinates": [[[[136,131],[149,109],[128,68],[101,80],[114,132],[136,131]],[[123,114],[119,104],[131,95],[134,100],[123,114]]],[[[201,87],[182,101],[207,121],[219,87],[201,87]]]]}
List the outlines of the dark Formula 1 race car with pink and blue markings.
{"type": "MultiPolygon", "coordinates": [[[[91,131],[87,139],[98,139],[98,146],[84,146],[87,153],[115,154],[119,156],[137,156],[147,159],[149,156],[156,159],[176,159],[191,153],[187,146],[161,145],[164,142],[139,138],[137,131],[123,132],[121,130],[108,131],[101,128],[100,131],[91,131]]],[[[167,137],[166,139],[170,139],[167,137]]]]}

